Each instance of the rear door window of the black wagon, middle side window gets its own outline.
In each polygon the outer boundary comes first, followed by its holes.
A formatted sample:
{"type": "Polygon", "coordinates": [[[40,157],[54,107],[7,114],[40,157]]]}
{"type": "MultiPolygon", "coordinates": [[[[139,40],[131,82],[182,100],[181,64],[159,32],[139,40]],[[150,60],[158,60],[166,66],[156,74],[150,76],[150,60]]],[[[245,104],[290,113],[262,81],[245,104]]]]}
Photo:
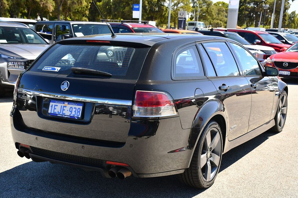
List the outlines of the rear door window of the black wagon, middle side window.
{"type": "Polygon", "coordinates": [[[218,76],[239,76],[235,59],[225,42],[203,44],[218,76]]]}

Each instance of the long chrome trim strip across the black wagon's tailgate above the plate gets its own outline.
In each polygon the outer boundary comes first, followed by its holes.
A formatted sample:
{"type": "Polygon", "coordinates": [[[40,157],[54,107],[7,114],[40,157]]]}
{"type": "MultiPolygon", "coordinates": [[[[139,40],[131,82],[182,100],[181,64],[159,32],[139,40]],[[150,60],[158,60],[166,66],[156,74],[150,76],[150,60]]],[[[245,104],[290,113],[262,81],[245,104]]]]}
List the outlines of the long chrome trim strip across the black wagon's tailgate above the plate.
{"type": "Polygon", "coordinates": [[[22,94],[29,94],[34,96],[42,96],[42,97],[50,97],[55,99],[64,99],[64,100],[73,100],[73,101],[80,101],[80,102],[96,102],[96,103],[103,103],[103,104],[117,104],[117,105],[129,105],[131,106],[131,100],[118,100],[118,99],[106,99],[106,98],[95,98],[95,97],[88,97],[88,96],[74,96],[68,94],[55,94],[46,91],[35,91],[30,89],[23,89],[18,88],[18,92],[22,94]]]}

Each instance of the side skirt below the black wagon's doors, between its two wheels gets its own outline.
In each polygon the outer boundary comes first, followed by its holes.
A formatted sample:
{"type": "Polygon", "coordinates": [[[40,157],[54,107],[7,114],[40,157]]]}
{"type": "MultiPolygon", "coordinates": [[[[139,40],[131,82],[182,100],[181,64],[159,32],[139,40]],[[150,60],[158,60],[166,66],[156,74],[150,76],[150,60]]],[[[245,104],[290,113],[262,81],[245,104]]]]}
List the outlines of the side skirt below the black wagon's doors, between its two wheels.
{"type": "Polygon", "coordinates": [[[267,131],[270,129],[272,126],[274,126],[275,121],[272,119],[271,121],[268,121],[267,123],[259,126],[258,128],[240,136],[237,137],[236,139],[229,141],[228,138],[226,138],[225,142],[225,147],[224,147],[224,152],[226,153],[227,151],[231,150],[232,148],[235,148],[236,146],[239,146],[240,144],[243,144],[244,142],[247,142],[248,140],[251,140],[254,137],[257,137],[258,135],[262,134],[263,132],[267,131]]]}

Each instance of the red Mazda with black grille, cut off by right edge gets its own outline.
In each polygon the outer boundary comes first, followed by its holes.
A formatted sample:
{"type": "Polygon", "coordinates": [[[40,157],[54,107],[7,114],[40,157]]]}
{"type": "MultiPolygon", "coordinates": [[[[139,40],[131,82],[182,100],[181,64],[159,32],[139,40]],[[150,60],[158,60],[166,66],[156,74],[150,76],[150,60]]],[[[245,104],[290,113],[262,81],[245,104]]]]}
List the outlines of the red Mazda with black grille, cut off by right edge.
{"type": "Polygon", "coordinates": [[[277,67],[280,76],[298,77],[298,42],[287,50],[267,58],[266,66],[277,67]]]}

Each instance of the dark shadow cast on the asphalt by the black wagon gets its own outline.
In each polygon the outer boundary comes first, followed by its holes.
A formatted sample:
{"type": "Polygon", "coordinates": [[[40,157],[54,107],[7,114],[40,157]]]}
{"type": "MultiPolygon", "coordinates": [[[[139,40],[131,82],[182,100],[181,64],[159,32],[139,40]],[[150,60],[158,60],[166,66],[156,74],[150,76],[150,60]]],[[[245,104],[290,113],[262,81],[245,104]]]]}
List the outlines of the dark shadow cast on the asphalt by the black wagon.
{"type": "MultiPolygon", "coordinates": [[[[220,171],[266,141],[265,132],[223,155],[220,171]]],[[[15,155],[15,157],[18,157],[15,155]]],[[[220,177],[220,173],[218,177],[220,177]]],[[[215,181],[216,182],[216,181],[215,181]]],[[[0,173],[3,197],[194,197],[204,190],[182,184],[176,175],[157,178],[103,178],[99,172],[49,162],[28,162],[0,173]]],[[[208,190],[208,189],[207,189],[208,190]]],[[[1,196],[0,196],[1,197],[1,196]]]]}

